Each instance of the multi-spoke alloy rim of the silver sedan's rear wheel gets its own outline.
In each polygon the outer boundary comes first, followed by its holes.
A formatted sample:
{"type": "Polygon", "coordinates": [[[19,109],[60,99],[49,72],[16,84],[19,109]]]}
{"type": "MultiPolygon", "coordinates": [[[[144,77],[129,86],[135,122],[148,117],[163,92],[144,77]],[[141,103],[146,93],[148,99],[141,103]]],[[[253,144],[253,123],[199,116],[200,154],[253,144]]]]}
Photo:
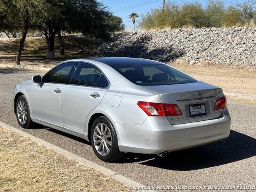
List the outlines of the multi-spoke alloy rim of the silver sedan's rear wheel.
{"type": "Polygon", "coordinates": [[[106,124],[99,123],[95,126],[93,132],[93,144],[97,152],[102,156],[106,156],[110,152],[112,135],[106,124]]]}

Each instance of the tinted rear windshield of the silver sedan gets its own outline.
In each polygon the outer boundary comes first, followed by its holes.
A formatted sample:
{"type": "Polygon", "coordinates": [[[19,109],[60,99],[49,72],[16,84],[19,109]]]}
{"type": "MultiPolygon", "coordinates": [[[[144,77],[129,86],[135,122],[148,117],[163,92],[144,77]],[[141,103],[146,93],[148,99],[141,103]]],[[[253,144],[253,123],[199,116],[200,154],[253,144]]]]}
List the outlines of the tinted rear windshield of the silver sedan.
{"type": "Polygon", "coordinates": [[[164,64],[116,66],[114,69],[137,85],[172,85],[197,82],[196,79],[164,64]]]}

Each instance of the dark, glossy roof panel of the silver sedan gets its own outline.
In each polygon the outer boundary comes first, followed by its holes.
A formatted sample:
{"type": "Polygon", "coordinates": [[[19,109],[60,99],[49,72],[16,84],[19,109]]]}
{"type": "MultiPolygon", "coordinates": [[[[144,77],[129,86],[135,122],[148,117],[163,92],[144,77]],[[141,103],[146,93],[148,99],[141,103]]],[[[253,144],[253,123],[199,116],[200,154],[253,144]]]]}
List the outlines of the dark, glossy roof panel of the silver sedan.
{"type": "Polygon", "coordinates": [[[153,61],[153,60],[142,59],[142,58],[130,58],[130,57],[98,57],[98,58],[84,58],[84,59],[102,62],[111,67],[162,64],[160,62],[153,61]]]}

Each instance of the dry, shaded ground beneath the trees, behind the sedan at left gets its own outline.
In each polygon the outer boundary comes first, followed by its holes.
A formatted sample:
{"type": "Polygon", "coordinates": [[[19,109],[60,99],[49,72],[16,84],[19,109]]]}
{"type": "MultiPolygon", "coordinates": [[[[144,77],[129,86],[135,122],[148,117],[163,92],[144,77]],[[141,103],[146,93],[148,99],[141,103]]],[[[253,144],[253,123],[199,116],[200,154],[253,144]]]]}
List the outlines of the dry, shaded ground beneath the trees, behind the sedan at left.
{"type": "MultiPolygon", "coordinates": [[[[65,55],[60,55],[60,44],[58,38],[55,38],[55,59],[46,59],[46,51],[48,51],[48,45],[46,38],[33,37],[26,38],[24,48],[22,50],[21,62],[22,65],[36,65],[52,67],[68,59],[86,58],[94,56],[94,50],[86,48],[85,44],[91,45],[92,41],[83,38],[84,45],[83,51],[77,44],[80,35],[63,36],[65,55]]],[[[18,50],[19,39],[18,38],[0,38],[0,64],[15,64],[16,53],[18,50]]],[[[80,45],[81,46],[81,45],[80,45]]],[[[92,44],[91,48],[96,49],[97,44],[92,44]]]]}

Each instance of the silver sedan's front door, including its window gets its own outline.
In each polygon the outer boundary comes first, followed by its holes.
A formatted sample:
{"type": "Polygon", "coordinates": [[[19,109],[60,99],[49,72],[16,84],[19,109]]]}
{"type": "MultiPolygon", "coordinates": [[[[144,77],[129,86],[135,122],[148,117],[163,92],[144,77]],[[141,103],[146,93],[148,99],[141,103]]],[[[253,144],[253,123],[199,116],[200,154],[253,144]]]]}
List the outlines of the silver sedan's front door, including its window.
{"type": "Polygon", "coordinates": [[[42,77],[42,83],[32,86],[33,117],[36,120],[63,127],[61,96],[77,62],[60,64],[42,77]]]}

